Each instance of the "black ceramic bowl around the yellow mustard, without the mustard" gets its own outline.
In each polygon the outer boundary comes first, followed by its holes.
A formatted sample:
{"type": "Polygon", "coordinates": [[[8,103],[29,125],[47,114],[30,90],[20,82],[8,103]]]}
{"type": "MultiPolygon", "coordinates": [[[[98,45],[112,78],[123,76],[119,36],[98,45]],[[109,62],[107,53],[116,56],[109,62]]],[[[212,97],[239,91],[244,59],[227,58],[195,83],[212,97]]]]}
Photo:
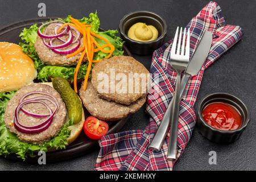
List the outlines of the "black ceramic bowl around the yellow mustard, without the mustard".
{"type": "Polygon", "coordinates": [[[132,53],[138,55],[150,55],[155,49],[158,49],[164,43],[166,37],[167,24],[166,21],[155,13],[149,11],[134,11],[120,20],[119,32],[126,46],[132,53]],[[128,38],[127,32],[133,24],[142,22],[154,26],[158,30],[158,39],[150,42],[139,42],[128,38]]]}

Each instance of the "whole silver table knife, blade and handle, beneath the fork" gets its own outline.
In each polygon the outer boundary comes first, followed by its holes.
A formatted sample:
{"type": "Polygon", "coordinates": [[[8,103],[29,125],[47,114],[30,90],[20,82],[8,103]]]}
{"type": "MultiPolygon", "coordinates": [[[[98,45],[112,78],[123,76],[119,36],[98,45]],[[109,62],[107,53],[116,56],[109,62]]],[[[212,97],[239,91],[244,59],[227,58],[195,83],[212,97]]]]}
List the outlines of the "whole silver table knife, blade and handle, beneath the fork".
{"type": "MultiPolygon", "coordinates": [[[[205,31],[181,79],[180,98],[183,96],[189,77],[197,75],[197,73],[203,66],[204,61],[205,59],[207,59],[208,53],[210,51],[210,46],[212,46],[212,33],[209,31],[205,31]]],[[[158,127],[158,131],[156,131],[156,134],[149,146],[149,149],[152,151],[158,152],[162,147],[164,138],[166,137],[168,131],[168,127],[170,126],[172,106],[173,100],[171,100],[170,104],[168,105],[162,122],[158,127]]]]}

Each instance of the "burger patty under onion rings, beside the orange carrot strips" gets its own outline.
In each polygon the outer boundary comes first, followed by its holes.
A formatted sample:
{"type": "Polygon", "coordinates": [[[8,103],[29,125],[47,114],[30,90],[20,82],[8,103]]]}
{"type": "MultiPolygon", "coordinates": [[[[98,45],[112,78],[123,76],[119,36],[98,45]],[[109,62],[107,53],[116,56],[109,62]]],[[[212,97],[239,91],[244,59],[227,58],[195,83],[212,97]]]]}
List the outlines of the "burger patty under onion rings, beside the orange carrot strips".
{"type": "MultiPolygon", "coordinates": [[[[46,34],[53,35],[54,28],[55,28],[55,26],[49,27],[46,34]]],[[[73,32],[73,30],[71,30],[71,31],[73,32]]],[[[63,39],[65,39],[65,37],[63,37],[63,39]]],[[[82,46],[81,40],[80,40],[80,43],[82,46]]],[[[55,40],[55,44],[56,45],[63,44],[63,42],[60,42],[59,40],[55,40]]],[[[65,47],[61,50],[69,49],[72,46],[75,46],[74,44],[75,43],[73,43],[73,44],[71,44],[71,46],[65,47]]],[[[43,63],[48,64],[48,65],[55,65],[55,66],[76,65],[81,57],[81,53],[77,54],[76,56],[67,58],[66,55],[59,55],[59,54],[53,52],[51,49],[49,49],[48,47],[46,47],[44,45],[43,39],[40,38],[40,36],[37,36],[34,47],[35,47],[36,53],[38,53],[40,60],[42,60],[43,63]]],[[[86,56],[84,57],[84,61],[85,60],[86,60],[86,56]]]]}

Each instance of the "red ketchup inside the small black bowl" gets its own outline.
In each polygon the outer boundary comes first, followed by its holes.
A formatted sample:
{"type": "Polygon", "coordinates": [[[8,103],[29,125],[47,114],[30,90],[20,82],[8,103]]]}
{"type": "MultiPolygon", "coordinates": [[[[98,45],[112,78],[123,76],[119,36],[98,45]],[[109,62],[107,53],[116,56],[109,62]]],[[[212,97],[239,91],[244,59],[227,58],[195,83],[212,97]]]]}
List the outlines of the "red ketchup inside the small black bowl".
{"type": "Polygon", "coordinates": [[[232,131],[242,124],[239,111],[232,105],[222,102],[213,102],[204,107],[204,121],[218,130],[232,131]]]}

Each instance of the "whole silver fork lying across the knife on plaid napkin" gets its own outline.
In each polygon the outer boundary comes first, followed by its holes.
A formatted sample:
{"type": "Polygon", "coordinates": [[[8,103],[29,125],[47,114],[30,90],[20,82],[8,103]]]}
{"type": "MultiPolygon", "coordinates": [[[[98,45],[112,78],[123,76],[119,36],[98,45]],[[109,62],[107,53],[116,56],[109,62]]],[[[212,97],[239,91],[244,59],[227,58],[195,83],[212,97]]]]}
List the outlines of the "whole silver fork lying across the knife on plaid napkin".
{"type": "Polygon", "coordinates": [[[168,144],[167,159],[176,159],[177,154],[177,125],[179,119],[179,105],[180,105],[180,80],[181,73],[187,68],[189,63],[189,45],[190,45],[190,32],[187,31],[187,43],[185,46],[186,38],[186,28],[183,33],[183,40],[181,45],[181,36],[182,36],[182,27],[180,28],[179,42],[177,43],[177,37],[179,33],[179,27],[177,27],[174,42],[172,43],[171,55],[170,55],[170,64],[172,68],[176,71],[177,80],[175,87],[174,95],[174,108],[171,111],[171,131],[168,144]],[[177,47],[176,47],[177,46],[177,47]],[[181,46],[181,48],[180,48],[181,46]],[[177,51],[176,51],[177,49],[177,51]]]}

